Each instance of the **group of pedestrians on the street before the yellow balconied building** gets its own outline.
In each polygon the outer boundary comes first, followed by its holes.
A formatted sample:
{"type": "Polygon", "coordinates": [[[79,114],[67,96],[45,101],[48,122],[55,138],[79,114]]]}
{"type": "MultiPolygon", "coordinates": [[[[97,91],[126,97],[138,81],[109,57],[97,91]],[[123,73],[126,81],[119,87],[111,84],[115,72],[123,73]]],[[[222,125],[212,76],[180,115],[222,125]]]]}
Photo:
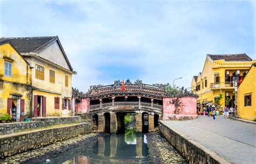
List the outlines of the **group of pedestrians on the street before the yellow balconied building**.
{"type": "MultiPolygon", "coordinates": [[[[234,113],[234,108],[231,106],[230,108],[228,108],[227,106],[225,106],[223,109],[220,107],[219,110],[220,111],[224,111],[224,118],[228,118],[228,116],[230,114],[233,114],[234,113]]],[[[215,115],[216,115],[216,109],[215,109],[215,105],[208,105],[207,106],[207,115],[208,117],[210,117],[210,113],[212,112],[211,116],[213,117],[213,120],[215,121],[216,118],[215,118],[215,115]]],[[[206,115],[206,110],[205,110],[205,107],[203,108],[203,113],[204,115],[206,115]]]]}

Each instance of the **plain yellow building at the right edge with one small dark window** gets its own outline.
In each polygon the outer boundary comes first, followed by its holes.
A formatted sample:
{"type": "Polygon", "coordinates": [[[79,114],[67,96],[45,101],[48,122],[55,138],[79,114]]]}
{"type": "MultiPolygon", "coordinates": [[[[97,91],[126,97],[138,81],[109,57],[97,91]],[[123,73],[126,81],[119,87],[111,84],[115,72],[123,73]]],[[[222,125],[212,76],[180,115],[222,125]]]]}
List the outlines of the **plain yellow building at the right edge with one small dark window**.
{"type": "Polygon", "coordinates": [[[256,119],[256,63],[253,63],[237,91],[237,111],[242,119],[256,119]]]}

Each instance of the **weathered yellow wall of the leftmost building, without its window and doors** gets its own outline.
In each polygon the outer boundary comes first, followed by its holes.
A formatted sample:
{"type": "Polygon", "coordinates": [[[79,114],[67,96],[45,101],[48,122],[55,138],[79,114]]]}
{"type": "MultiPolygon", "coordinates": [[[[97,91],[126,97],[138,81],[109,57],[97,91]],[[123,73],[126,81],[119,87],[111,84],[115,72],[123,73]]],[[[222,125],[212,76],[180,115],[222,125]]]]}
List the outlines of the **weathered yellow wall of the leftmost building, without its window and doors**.
{"type": "Polygon", "coordinates": [[[7,99],[10,93],[21,94],[25,100],[25,117],[30,117],[31,69],[28,63],[9,44],[0,45],[0,113],[7,113],[7,99]],[[12,59],[12,76],[4,75],[4,61],[12,59]]]}

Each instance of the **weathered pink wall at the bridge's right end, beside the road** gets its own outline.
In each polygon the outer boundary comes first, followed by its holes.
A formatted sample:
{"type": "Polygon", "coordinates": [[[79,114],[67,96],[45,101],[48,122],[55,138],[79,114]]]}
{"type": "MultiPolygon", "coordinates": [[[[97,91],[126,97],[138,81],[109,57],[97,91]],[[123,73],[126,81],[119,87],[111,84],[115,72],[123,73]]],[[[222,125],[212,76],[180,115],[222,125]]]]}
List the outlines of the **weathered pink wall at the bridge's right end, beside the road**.
{"type": "Polygon", "coordinates": [[[180,106],[176,108],[172,104],[172,100],[175,98],[163,99],[163,113],[164,120],[170,119],[170,117],[180,118],[181,116],[196,116],[197,115],[197,99],[194,97],[181,97],[179,98],[180,106]]]}

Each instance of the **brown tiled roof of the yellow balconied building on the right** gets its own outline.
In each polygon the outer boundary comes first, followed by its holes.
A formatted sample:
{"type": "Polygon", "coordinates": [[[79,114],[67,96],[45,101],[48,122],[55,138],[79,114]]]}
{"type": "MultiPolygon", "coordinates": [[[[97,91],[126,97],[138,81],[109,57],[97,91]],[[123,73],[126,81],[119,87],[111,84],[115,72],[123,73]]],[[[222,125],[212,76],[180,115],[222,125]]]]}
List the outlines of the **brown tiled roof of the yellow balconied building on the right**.
{"type": "Polygon", "coordinates": [[[207,54],[212,60],[225,60],[225,61],[252,61],[246,53],[239,54],[207,54]]]}

